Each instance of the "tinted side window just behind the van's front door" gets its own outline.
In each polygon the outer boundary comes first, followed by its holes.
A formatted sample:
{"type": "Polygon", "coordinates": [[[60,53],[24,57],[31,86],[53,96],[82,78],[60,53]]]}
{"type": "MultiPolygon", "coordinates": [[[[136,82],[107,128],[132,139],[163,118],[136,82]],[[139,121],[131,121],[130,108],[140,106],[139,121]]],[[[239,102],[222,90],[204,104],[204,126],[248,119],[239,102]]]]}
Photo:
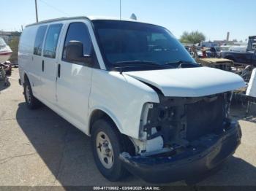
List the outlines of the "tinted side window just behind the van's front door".
{"type": "Polygon", "coordinates": [[[44,56],[48,58],[56,57],[56,48],[61,32],[62,24],[50,25],[47,31],[44,45],[44,56]]]}

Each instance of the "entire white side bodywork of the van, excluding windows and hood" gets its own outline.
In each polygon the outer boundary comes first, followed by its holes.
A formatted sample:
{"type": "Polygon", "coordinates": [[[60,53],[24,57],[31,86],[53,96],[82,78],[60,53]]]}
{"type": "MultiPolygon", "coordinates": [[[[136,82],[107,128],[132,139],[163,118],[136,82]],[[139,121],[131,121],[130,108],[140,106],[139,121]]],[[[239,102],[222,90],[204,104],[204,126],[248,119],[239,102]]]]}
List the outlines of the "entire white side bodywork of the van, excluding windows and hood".
{"type": "Polygon", "coordinates": [[[121,133],[138,139],[143,105],[147,102],[159,103],[159,97],[151,87],[119,72],[105,71],[93,28],[85,19],[42,23],[25,28],[20,40],[19,65],[21,83],[23,84],[23,77],[27,74],[34,96],[87,135],[89,135],[90,117],[99,109],[112,118],[121,133]],[[69,23],[76,22],[85,23],[88,27],[100,69],[61,61],[69,23]],[[63,24],[56,58],[34,55],[37,28],[56,23],[63,24]],[[42,60],[45,61],[44,74],[42,74],[42,60]],[[57,77],[58,64],[61,64],[61,77],[64,78],[57,77]]]}

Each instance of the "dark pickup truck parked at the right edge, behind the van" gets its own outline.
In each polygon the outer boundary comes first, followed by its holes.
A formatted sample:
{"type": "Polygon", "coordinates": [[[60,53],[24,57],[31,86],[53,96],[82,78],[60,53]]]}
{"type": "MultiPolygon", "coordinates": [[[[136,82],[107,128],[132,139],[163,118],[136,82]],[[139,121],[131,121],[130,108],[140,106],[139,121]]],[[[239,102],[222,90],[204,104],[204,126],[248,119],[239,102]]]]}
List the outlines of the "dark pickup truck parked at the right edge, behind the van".
{"type": "Polygon", "coordinates": [[[223,51],[222,58],[234,61],[235,64],[256,66],[256,36],[249,36],[246,52],[223,51]]]}

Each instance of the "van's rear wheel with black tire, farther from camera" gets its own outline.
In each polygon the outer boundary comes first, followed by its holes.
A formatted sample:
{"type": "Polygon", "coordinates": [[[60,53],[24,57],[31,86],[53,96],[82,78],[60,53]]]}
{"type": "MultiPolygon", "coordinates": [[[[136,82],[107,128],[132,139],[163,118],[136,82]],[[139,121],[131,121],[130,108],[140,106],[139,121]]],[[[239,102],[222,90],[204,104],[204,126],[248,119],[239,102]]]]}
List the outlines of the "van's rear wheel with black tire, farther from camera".
{"type": "Polygon", "coordinates": [[[37,109],[40,106],[40,102],[33,95],[29,79],[25,79],[23,87],[26,105],[29,109],[37,109]]]}

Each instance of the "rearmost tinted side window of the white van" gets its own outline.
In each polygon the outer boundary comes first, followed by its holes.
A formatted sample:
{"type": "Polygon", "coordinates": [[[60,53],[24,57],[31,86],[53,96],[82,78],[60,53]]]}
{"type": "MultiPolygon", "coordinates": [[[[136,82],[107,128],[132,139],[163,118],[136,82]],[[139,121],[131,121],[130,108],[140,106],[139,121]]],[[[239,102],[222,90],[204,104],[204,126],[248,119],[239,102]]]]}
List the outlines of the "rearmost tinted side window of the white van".
{"type": "Polygon", "coordinates": [[[39,26],[36,39],[34,41],[34,55],[42,55],[42,42],[44,42],[47,26],[39,26]]]}

